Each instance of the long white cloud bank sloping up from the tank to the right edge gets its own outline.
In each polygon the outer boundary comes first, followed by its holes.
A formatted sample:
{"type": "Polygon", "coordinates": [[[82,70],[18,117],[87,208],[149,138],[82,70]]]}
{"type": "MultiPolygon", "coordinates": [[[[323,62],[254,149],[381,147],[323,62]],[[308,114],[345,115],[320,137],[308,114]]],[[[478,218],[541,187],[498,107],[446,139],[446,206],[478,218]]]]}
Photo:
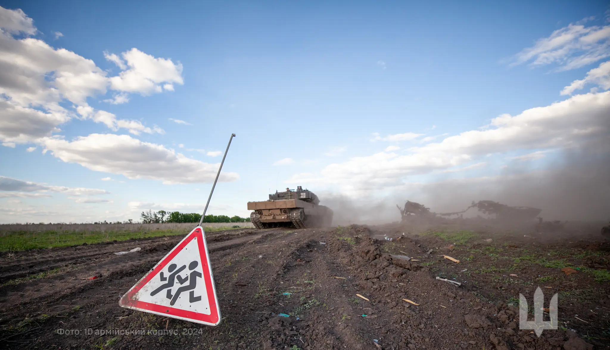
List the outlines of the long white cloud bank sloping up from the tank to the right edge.
{"type": "Polygon", "coordinates": [[[408,154],[379,152],[352,157],[326,166],[318,175],[295,174],[288,182],[340,185],[343,190],[389,188],[403,184],[407,176],[449,170],[487,154],[603,142],[610,132],[609,115],[610,91],[576,95],[519,115],[500,115],[484,129],[409,148],[408,154]]]}

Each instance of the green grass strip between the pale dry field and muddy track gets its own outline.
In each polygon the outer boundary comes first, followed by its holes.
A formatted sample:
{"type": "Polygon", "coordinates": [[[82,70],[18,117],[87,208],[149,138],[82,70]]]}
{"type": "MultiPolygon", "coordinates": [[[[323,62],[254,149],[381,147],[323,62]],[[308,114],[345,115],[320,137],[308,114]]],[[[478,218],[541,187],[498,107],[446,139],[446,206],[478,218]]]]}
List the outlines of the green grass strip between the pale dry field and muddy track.
{"type": "MultiPolygon", "coordinates": [[[[193,224],[195,225],[195,224],[193,224]]],[[[241,227],[219,226],[205,227],[206,232],[220,230],[239,229],[241,227]]],[[[132,238],[152,238],[161,236],[185,235],[190,230],[169,229],[169,230],[150,230],[140,232],[129,231],[89,231],[76,232],[73,230],[46,230],[42,232],[17,231],[0,235],[0,252],[5,251],[26,251],[29,249],[45,249],[82,245],[87,243],[111,242],[114,240],[125,241],[132,238]]]]}

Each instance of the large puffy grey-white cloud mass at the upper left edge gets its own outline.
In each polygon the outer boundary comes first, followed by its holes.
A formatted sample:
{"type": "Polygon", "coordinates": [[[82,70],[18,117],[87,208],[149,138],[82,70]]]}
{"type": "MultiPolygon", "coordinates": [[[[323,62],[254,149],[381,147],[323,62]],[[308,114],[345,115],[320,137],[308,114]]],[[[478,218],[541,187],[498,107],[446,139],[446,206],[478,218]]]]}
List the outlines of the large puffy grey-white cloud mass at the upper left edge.
{"type": "MultiPolygon", "coordinates": [[[[29,143],[60,132],[59,126],[75,117],[87,119],[98,112],[108,113],[94,110],[87,99],[106,95],[113,82],[129,85],[135,79],[130,77],[135,76],[150,80],[159,87],[157,90],[162,90],[159,85],[162,83],[182,84],[181,65],[156,59],[137,49],[123,52],[127,59],[127,64],[123,64],[125,70],[119,76],[108,77],[106,71],[81,55],[52,48],[39,39],[18,38],[15,35],[37,32],[32,19],[21,10],[0,7],[0,28],[0,142],[29,143]]],[[[121,66],[117,55],[106,52],[105,56],[121,66]]],[[[118,88],[112,92],[113,98],[104,101],[127,102],[128,92],[146,93],[118,88]]],[[[145,127],[139,121],[114,119],[115,122],[104,124],[113,130],[124,127],[134,134],[163,132],[159,127],[145,127]]]]}

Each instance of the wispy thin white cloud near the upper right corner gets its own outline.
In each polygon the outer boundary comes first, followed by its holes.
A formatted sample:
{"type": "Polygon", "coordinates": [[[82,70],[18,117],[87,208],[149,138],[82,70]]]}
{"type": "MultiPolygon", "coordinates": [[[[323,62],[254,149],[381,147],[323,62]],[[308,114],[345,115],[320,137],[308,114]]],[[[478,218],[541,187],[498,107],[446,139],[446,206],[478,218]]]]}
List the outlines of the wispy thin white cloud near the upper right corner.
{"type": "Polygon", "coordinates": [[[555,30],[548,38],[540,38],[534,46],[515,55],[511,65],[556,63],[558,71],[567,71],[607,57],[610,57],[610,26],[586,27],[578,23],[555,30]]]}

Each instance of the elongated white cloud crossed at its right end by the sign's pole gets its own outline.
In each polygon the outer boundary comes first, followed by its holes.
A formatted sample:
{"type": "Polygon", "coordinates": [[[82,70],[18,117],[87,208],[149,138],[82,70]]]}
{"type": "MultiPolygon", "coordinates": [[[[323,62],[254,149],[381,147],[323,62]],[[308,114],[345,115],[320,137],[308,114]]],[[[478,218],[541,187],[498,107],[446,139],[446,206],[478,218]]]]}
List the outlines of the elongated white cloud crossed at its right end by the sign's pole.
{"type": "MultiPolygon", "coordinates": [[[[66,163],[93,171],[121,174],[129,179],[162,180],[164,184],[212,182],[217,164],[200,162],[129,135],[91,134],[74,141],[45,138],[45,149],[66,163]]],[[[237,173],[221,173],[221,181],[239,179],[237,173]]]]}

